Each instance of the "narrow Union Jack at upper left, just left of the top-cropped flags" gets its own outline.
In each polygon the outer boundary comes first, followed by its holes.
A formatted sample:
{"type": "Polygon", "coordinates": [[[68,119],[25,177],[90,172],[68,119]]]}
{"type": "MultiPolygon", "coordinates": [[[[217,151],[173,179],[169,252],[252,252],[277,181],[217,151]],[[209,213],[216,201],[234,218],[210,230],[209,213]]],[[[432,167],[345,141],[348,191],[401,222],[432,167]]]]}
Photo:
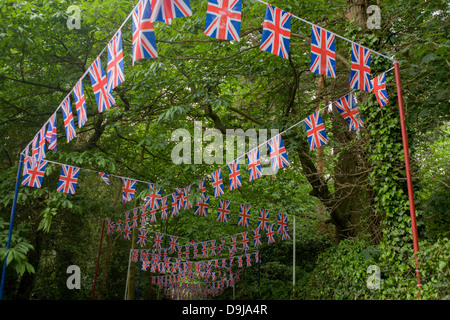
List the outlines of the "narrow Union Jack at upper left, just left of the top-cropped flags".
{"type": "Polygon", "coordinates": [[[133,11],[133,65],[137,60],[158,56],[151,16],[150,0],[139,1],[133,11]]]}

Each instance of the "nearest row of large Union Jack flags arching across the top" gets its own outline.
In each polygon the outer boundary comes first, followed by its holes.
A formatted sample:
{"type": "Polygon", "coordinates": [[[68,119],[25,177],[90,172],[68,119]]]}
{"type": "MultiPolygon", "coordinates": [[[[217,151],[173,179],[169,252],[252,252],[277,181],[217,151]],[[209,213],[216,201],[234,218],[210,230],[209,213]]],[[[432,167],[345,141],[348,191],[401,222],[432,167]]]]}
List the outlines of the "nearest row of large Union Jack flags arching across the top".
{"type": "MultiPolygon", "coordinates": [[[[240,40],[242,0],[209,0],[206,12],[205,35],[223,39],[240,40]]],[[[131,13],[132,17],[132,65],[137,60],[156,58],[155,21],[170,24],[174,18],[189,17],[192,10],[189,0],[140,0],[131,13]]],[[[292,14],[267,4],[264,17],[260,50],[283,58],[289,57],[292,14]]],[[[126,21],[125,21],[126,22],[126,21]]],[[[124,23],[125,23],[124,22],[124,23]]],[[[336,36],[332,32],[312,25],[310,71],[316,74],[336,78],[336,36]]],[[[351,44],[350,88],[373,92],[381,107],[388,103],[386,74],[371,79],[371,50],[359,44],[351,44]]],[[[122,30],[119,29],[107,44],[107,72],[105,73],[100,55],[93,61],[87,73],[99,113],[108,110],[116,101],[112,90],[125,81],[123,62],[122,30]]],[[[85,73],[86,75],[86,73],[85,73]]],[[[83,75],[73,87],[71,93],[75,102],[78,128],[87,122],[86,98],[83,88],[83,75]]],[[[66,140],[76,137],[74,116],[70,94],[60,104],[66,140]]],[[[59,109],[59,108],[58,108],[59,109]]],[[[45,157],[42,144],[45,139],[49,150],[57,150],[56,112],[37,134],[40,137],[40,156],[45,157]],[[45,128],[47,126],[47,128],[45,128]],[[45,139],[44,139],[45,137],[45,139]]],[[[37,141],[33,140],[34,143],[37,141]]],[[[34,160],[34,159],[33,159],[34,160]]]]}

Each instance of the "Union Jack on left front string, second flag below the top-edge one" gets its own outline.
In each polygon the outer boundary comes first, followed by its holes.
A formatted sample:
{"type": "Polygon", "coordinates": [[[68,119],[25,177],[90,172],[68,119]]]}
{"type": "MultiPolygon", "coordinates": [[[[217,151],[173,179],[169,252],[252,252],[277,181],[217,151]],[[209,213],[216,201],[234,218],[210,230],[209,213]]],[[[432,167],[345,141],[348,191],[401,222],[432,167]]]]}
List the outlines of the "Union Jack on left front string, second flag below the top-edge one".
{"type": "Polygon", "coordinates": [[[103,70],[100,56],[94,60],[89,67],[89,76],[91,78],[92,90],[94,91],[95,101],[99,113],[111,108],[116,101],[112,94],[112,88],[108,88],[108,79],[103,70]]]}

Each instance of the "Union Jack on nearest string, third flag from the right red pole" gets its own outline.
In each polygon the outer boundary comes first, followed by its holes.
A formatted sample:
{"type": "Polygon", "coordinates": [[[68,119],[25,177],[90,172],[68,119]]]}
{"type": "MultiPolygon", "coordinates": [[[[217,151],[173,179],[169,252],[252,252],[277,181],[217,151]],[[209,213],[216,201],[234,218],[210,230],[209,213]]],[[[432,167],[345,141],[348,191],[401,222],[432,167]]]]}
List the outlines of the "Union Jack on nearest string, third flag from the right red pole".
{"type": "Polygon", "coordinates": [[[310,70],[316,74],[336,78],[335,35],[318,26],[312,26],[310,70]]]}

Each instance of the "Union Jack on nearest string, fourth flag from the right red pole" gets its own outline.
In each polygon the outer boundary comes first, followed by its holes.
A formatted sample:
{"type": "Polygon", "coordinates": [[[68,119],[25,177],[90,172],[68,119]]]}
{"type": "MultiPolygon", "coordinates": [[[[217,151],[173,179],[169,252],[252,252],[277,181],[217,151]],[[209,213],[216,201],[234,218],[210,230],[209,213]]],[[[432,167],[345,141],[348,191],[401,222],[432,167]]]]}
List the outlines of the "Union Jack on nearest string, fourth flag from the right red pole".
{"type": "Polygon", "coordinates": [[[291,14],[268,4],[259,50],[287,59],[289,58],[290,40],[291,14]]]}

